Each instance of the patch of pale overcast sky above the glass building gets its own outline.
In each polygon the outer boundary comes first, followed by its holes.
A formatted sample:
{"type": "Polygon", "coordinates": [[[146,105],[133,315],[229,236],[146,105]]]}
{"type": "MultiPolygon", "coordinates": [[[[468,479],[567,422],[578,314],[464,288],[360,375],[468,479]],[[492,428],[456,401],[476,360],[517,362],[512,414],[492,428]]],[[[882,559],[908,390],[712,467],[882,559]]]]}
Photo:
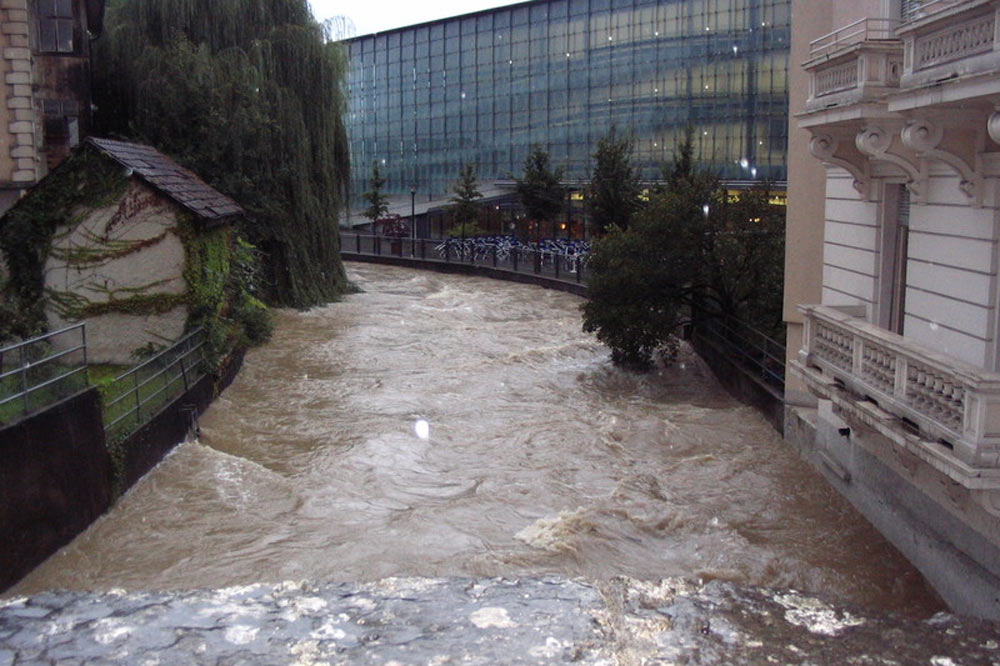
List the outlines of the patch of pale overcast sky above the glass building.
{"type": "Polygon", "coordinates": [[[381,32],[434,19],[512,5],[518,0],[309,0],[313,15],[323,21],[347,16],[355,36],[381,32]]]}

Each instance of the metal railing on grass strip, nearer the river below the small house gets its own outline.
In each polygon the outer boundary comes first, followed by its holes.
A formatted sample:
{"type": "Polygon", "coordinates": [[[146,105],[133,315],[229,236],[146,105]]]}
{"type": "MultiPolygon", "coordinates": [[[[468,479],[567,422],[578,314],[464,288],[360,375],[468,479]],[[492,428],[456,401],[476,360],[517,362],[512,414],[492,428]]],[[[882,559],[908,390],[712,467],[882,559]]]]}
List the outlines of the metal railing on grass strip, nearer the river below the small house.
{"type": "Polygon", "coordinates": [[[116,377],[105,389],[104,431],[127,435],[205,375],[201,329],[116,377]]]}

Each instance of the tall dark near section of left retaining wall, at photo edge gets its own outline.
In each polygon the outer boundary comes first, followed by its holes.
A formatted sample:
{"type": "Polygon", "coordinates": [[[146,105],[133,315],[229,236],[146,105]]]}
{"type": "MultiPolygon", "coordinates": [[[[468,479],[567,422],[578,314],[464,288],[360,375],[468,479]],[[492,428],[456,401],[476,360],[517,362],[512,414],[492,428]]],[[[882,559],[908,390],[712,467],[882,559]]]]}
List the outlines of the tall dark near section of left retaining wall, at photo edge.
{"type": "Polygon", "coordinates": [[[0,430],[0,590],[72,541],[111,500],[97,389],[0,430]]]}

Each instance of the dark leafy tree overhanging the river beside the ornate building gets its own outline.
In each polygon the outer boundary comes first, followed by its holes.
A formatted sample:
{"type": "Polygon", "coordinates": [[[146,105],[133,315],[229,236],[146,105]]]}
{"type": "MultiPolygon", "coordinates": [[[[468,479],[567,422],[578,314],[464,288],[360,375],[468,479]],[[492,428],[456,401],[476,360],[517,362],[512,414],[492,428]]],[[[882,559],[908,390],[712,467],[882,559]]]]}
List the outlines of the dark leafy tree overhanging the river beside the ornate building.
{"type": "Polygon", "coordinates": [[[765,330],[781,320],[784,214],[767,188],[730,197],[711,174],[675,173],[629,228],[612,227],[595,243],[590,260],[584,330],[630,369],[648,369],[692,312],[765,330]]]}

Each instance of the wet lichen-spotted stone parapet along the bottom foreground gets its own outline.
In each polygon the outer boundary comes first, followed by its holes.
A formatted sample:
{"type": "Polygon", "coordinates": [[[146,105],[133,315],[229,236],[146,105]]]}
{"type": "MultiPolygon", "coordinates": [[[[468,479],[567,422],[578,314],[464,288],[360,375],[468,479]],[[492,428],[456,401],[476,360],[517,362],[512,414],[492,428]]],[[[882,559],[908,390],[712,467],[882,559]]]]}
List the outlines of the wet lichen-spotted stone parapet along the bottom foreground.
{"type": "Polygon", "coordinates": [[[1000,626],[714,581],[394,578],[0,600],[9,664],[1000,666],[1000,626]]]}

